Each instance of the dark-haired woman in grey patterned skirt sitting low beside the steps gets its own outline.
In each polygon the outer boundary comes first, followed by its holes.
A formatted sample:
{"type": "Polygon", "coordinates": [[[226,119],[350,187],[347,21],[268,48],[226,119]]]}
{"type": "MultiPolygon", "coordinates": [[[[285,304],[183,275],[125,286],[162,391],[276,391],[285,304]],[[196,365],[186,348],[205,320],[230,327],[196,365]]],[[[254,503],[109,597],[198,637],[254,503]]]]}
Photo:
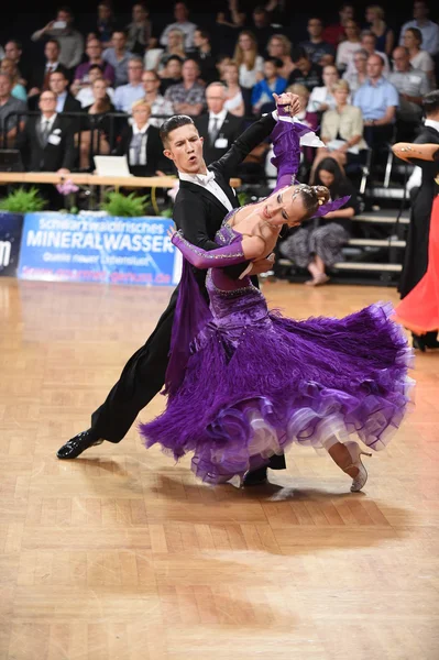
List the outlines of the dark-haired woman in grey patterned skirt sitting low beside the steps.
{"type": "Polygon", "coordinates": [[[351,182],[344,176],[334,158],[321,161],[315,172],[315,182],[326,186],[332,199],[350,196],[337,211],[330,211],[323,220],[303,224],[279,244],[279,252],[312,275],[305,284],[317,286],[328,282],[326,268],[342,261],[341,248],[349,241],[351,218],[360,211],[359,200],[351,182]],[[328,222],[330,220],[330,222],[328,222]]]}

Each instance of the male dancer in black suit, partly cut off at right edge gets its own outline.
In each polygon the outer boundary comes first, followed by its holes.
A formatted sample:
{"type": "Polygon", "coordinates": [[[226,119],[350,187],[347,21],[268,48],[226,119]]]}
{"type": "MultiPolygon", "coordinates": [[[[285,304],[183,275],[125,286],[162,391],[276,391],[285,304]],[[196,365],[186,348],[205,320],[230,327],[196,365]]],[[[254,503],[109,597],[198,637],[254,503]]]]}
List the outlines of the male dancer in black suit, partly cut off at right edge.
{"type": "MultiPolygon", "coordinates": [[[[422,109],[426,120],[414,142],[416,144],[439,144],[439,89],[430,91],[422,98],[422,109]]],[[[438,194],[438,186],[435,182],[437,164],[420,160],[414,160],[413,163],[421,168],[422,178],[419,188],[415,188],[410,193],[410,224],[398,286],[402,298],[415,288],[427,272],[431,207],[438,194]]],[[[421,337],[414,334],[414,346],[424,350],[425,346],[439,349],[437,334],[436,331],[427,332],[421,337]]]]}

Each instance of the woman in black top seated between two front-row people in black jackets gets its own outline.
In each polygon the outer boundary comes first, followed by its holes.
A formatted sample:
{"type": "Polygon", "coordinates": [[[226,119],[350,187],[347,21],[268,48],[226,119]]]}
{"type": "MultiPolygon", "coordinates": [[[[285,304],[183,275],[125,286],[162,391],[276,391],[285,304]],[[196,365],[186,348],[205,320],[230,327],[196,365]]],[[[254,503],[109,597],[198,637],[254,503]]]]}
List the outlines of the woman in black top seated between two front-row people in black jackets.
{"type": "Polygon", "coordinates": [[[91,158],[95,155],[106,156],[110,153],[111,123],[109,112],[116,108],[108,95],[108,84],[102,77],[97,78],[91,85],[94,102],[84,108],[81,117],[81,131],[76,134],[76,144],[79,143],[79,167],[90,169],[91,158]]]}

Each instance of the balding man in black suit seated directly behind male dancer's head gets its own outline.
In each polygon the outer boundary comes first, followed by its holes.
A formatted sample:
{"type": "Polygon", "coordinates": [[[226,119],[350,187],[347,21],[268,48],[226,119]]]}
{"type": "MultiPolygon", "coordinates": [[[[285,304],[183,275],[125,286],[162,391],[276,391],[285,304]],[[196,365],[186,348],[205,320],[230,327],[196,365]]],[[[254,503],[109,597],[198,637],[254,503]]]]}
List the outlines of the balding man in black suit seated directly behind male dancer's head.
{"type": "MultiPolygon", "coordinates": [[[[212,82],[206,89],[207,114],[195,120],[198,133],[204,138],[204,157],[207,165],[219,161],[244,130],[242,118],[230,114],[224,109],[226,87],[212,82]]],[[[233,172],[232,175],[235,175],[233,172]]]]}

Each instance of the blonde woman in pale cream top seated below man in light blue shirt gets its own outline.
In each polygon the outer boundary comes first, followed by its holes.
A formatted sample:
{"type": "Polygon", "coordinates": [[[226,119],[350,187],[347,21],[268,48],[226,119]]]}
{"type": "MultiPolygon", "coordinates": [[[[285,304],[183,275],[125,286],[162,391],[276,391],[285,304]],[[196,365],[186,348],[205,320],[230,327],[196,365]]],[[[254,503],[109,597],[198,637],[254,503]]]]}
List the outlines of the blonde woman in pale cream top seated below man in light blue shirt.
{"type": "Polygon", "coordinates": [[[317,150],[312,163],[311,183],[317,165],[329,155],[343,167],[362,163],[365,158],[364,150],[367,145],[363,139],[363,116],[360,108],[348,102],[349,92],[347,80],[339,80],[332,87],[336,108],[323,112],[321,119],[320,138],[325,146],[317,150]]]}

